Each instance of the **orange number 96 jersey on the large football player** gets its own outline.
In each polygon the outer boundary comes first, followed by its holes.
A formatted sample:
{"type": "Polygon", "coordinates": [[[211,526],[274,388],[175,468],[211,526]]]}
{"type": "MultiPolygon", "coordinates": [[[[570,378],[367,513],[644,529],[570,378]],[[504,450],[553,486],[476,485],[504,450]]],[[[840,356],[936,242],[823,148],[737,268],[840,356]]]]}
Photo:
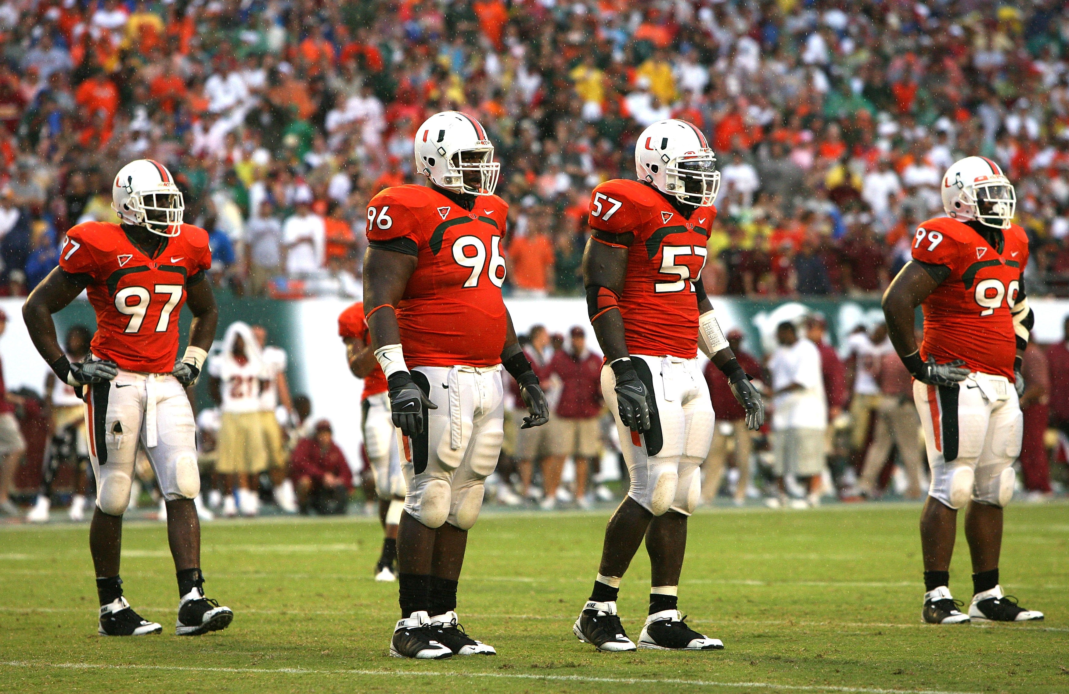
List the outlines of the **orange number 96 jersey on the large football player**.
{"type": "Polygon", "coordinates": [[[497,195],[469,212],[424,186],[387,188],[368,204],[368,240],[410,239],[416,270],[394,306],[409,366],[493,366],[505,348],[506,219],[497,195]]]}

